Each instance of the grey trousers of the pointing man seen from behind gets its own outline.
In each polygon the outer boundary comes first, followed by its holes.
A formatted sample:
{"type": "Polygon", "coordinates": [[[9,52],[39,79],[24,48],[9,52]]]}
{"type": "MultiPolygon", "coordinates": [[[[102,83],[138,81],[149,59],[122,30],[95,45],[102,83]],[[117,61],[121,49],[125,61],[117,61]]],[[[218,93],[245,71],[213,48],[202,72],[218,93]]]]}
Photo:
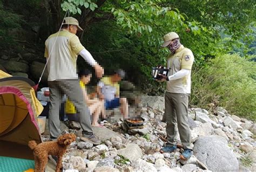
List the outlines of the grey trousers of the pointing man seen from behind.
{"type": "Polygon", "coordinates": [[[66,79],[58,81],[48,81],[50,88],[50,107],[49,107],[49,131],[52,137],[58,137],[60,133],[59,108],[62,96],[66,94],[75,105],[79,113],[79,122],[83,129],[83,134],[93,133],[90,120],[90,111],[87,107],[82,89],[77,79],[66,79]]]}

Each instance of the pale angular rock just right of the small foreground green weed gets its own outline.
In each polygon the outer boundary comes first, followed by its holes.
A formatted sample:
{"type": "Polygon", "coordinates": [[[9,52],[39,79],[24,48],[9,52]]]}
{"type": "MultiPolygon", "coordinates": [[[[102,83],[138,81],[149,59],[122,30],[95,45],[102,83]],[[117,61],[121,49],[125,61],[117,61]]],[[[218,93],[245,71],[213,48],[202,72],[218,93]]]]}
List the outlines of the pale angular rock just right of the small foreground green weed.
{"type": "Polygon", "coordinates": [[[140,149],[138,145],[133,143],[127,144],[126,148],[124,149],[117,150],[117,154],[124,156],[131,162],[136,161],[143,156],[142,149],[140,149]]]}

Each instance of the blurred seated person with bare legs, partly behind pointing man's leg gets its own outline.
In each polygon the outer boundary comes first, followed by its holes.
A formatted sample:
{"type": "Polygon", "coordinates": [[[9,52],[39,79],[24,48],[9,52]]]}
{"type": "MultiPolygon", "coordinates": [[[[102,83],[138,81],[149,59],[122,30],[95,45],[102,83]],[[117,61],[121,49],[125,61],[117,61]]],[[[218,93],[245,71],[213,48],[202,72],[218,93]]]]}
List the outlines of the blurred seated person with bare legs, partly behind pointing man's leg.
{"type": "MultiPolygon", "coordinates": [[[[104,101],[99,100],[97,98],[90,99],[86,93],[85,85],[90,82],[91,77],[92,77],[92,73],[89,70],[87,70],[87,69],[81,70],[78,73],[78,76],[80,79],[80,87],[83,90],[86,105],[89,107],[91,115],[93,115],[92,126],[99,126],[98,119],[99,119],[100,113],[102,113],[103,118],[105,118],[104,101]]],[[[79,116],[75,115],[76,108],[69,99],[66,101],[65,111],[66,111],[66,115],[68,116],[69,120],[78,121],[79,116]]]]}

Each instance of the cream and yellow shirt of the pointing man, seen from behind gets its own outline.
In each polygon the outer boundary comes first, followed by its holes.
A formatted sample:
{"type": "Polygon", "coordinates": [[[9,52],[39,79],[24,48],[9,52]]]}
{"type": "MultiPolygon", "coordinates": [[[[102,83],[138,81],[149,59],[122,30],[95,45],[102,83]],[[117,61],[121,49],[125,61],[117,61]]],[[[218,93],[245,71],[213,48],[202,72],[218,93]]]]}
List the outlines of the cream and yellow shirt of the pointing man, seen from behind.
{"type": "Polygon", "coordinates": [[[48,61],[48,81],[78,79],[77,55],[84,49],[79,38],[68,30],[62,30],[49,36],[45,41],[44,56],[48,61]]]}

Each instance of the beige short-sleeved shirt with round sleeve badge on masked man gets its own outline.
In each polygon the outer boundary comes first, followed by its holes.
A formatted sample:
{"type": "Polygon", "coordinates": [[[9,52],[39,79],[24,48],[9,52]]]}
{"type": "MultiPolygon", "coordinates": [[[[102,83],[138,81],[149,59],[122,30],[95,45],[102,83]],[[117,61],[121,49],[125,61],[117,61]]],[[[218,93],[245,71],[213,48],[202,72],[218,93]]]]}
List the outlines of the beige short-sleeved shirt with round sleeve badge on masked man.
{"type": "Polygon", "coordinates": [[[167,68],[169,68],[168,75],[180,71],[181,69],[190,70],[190,73],[183,78],[167,81],[166,91],[170,93],[191,93],[191,68],[193,65],[194,56],[190,49],[183,45],[176,50],[175,54],[170,54],[167,59],[167,68]]]}

